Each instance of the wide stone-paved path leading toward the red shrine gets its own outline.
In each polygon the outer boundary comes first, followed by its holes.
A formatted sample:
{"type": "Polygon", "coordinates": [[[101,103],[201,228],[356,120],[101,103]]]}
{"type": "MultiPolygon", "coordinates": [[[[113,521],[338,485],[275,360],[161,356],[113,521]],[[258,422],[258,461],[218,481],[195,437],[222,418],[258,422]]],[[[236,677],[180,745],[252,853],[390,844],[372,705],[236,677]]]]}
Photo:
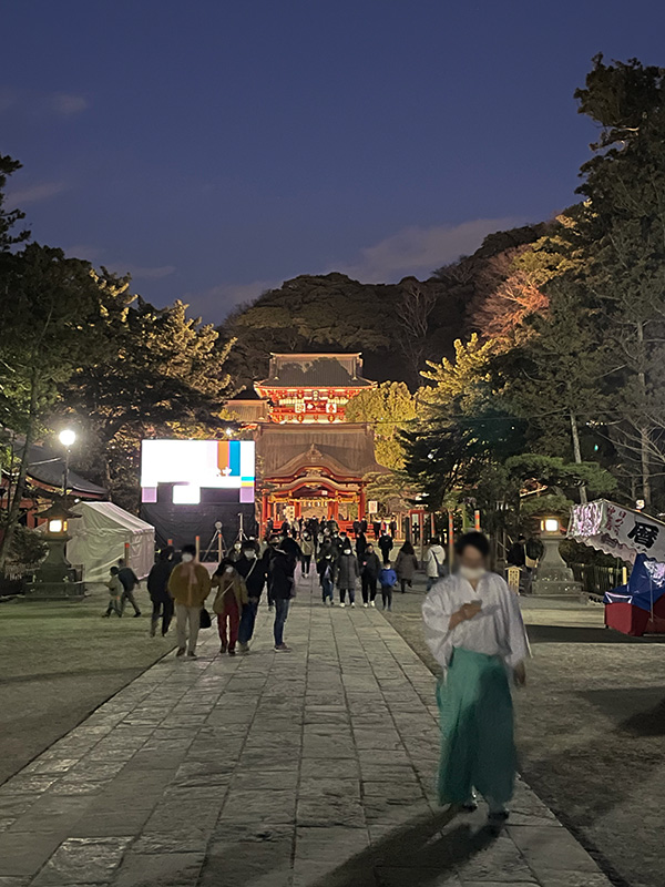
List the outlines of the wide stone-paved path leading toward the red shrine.
{"type": "MultiPolygon", "coordinates": [[[[399,600],[397,601],[399,605],[399,600]]],[[[272,650],[173,654],[0,788],[0,887],[607,887],[523,784],[498,838],[437,808],[434,680],[308,582],[272,650]]]]}

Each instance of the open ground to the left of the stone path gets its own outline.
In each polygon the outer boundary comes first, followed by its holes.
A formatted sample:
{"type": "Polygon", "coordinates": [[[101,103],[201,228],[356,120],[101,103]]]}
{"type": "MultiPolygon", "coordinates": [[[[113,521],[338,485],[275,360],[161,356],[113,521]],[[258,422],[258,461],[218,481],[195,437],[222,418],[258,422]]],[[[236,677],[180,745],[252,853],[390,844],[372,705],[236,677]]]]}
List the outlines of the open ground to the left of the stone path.
{"type": "Polygon", "coordinates": [[[137,601],[140,619],[102,619],[103,587],[78,603],[0,604],[0,783],[173,649],[173,634],[149,636],[145,591],[137,601]]]}

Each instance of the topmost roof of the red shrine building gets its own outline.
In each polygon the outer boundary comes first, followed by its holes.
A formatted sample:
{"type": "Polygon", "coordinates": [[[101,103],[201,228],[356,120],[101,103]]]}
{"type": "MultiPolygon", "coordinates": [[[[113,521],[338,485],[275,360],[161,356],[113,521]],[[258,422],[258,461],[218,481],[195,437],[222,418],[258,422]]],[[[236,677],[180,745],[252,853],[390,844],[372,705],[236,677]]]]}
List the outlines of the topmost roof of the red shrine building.
{"type": "Polygon", "coordinates": [[[259,388],[371,388],[362,358],[355,354],[273,354],[268,377],[259,388]]]}

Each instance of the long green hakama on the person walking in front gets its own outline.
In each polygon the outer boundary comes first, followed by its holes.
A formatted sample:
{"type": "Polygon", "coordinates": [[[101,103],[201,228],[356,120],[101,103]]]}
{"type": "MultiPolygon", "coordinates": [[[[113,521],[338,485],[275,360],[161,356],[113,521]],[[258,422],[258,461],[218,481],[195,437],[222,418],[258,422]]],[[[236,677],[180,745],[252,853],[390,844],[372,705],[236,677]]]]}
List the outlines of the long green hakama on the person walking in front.
{"type": "Polygon", "coordinates": [[[456,648],[437,701],[442,736],[440,803],[463,804],[475,788],[491,805],[507,804],[513,794],[516,752],[503,660],[456,648]]]}

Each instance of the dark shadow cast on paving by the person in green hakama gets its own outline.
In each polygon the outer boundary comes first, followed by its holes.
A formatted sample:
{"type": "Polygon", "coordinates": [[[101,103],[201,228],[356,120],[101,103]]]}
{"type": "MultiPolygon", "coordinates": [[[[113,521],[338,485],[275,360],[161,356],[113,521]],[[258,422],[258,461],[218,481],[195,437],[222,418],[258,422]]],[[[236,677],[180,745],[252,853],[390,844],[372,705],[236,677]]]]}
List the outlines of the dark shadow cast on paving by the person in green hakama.
{"type": "Polygon", "coordinates": [[[364,853],[334,871],[313,881],[311,887],[429,887],[443,875],[488,847],[494,834],[487,828],[473,832],[461,824],[441,834],[454,818],[444,812],[423,816],[391,832],[364,853]]]}

